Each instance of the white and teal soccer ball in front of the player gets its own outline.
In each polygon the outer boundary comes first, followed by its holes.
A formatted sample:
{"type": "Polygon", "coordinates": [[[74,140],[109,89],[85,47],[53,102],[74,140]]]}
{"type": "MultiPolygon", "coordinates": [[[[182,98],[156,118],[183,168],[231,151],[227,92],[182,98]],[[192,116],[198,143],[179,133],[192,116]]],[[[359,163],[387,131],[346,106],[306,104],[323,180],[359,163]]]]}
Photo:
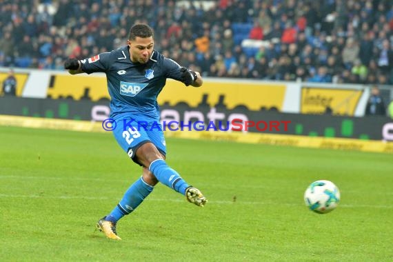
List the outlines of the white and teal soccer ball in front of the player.
{"type": "Polygon", "coordinates": [[[339,205],[340,191],[331,181],[318,180],[312,182],[305,190],[304,201],[310,210],[325,214],[339,205]]]}

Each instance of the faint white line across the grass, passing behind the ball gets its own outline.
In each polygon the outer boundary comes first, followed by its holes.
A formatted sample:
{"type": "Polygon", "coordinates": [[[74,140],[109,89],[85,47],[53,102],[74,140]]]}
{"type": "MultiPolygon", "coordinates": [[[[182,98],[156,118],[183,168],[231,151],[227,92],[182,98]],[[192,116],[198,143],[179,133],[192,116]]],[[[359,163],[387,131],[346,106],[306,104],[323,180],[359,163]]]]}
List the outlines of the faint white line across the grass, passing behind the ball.
{"type": "MultiPolygon", "coordinates": [[[[0,194],[0,198],[24,198],[24,199],[86,199],[86,200],[114,200],[109,197],[96,197],[96,196],[40,196],[37,194],[23,195],[23,194],[0,194]]],[[[154,199],[148,198],[146,201],[165,201],[165,202],[184,202],[181,199],[154,199]]],[[[298,203],[273,203],[273,202],[256,202],[256,201],[209,201],[209,204],[221,204],[221,205],[286,205],[286,206],[302,206],[298,203]]],[[[393,205],[347,205],[340,204],[341,208],[376,208],[376,209],[391,209],[393,205]]]]}

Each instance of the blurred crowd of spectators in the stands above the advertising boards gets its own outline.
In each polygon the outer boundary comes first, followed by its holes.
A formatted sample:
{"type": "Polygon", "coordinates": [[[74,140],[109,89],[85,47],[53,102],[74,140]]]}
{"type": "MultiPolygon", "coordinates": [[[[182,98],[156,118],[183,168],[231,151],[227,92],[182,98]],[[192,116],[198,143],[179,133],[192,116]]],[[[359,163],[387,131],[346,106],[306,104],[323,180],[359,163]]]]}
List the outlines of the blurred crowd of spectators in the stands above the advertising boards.
{"type": "Polygon", "coordinates": [[[126,44],[134,23],[155,49],[209,77],[393,84],[389,0],[0,0],[0,66],[63,69],[126,44]]]}

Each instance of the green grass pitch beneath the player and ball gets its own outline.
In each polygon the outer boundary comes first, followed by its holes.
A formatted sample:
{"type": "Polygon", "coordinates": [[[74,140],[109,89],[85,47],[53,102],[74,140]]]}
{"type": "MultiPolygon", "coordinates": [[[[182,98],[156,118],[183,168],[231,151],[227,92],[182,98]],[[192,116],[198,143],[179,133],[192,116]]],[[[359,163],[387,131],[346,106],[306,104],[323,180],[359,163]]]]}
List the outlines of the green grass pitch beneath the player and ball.
{"type": "Polygon", "coordinates": [[[112,134],[0,127],[1,261],[392,261],[392,154],[167,139],[168,163],[205,208],[157,185],[94,232],[141,168],[112,134]],[[314,214],[315,180],[341,190],[314,214]]]}

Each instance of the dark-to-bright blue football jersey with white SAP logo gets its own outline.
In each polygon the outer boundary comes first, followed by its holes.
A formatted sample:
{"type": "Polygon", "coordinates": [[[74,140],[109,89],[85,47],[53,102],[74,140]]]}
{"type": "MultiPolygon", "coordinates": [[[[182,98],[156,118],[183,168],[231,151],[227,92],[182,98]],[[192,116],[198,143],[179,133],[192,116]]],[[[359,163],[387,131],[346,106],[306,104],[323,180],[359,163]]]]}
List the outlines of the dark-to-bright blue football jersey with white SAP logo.
{"type": "Polygon", "coordinates": [[[87,74],[104,72],[111,97],[110,117],[131,112],[159,119],[157,96],[166,79],[181,81],[179,64],[156,50],[148,63],[132,63],[128,46],[81,60],[87,74]]]}

